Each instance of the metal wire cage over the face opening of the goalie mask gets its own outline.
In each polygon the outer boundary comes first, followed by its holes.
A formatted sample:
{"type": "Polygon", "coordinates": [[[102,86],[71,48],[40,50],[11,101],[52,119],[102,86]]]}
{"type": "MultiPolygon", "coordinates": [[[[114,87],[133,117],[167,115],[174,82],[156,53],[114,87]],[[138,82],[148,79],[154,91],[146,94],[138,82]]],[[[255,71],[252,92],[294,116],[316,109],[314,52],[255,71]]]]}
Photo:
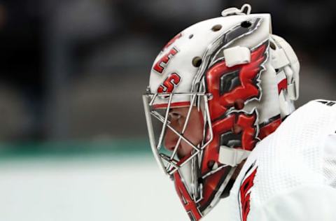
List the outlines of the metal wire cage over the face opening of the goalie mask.
{"type": "Polygon", "coordinates": [[[172,176],[178,169],[196,162],[196,158],[200,159],[202,155],[202,150],[212,141],[213,134],[211,128],[211,119],[209,115],[209,107],[207,105],[209,99],[209,94],[204,93],[190,93],[190,94],[174,94],[174,93],[161,93],[161,94],[144,94],[144,107],[146,114],[146,121],[148,127],[148,133],[151,143],[151,148],[158,162],[160,168],[169,176],[172,176]],[[172,102],[173,99],[179,99],[179,97],[189,97],[189,102],[172,102]],[[166,99],[167,104],[155,104],[158,99],[166,99]],[[178,131],[176,128],[172,127],[170,121],[170,113],[174,108],[186,108],[186,115],[183,116],[183,125],[178,131]],[[190,115],[192,111],[197,112],[202,117],[202,141],[200,143],[193,143],[190,138],[184,136],[186,134],[186,129],[188,124],[190,124],[190,115]],[[164,146],[165,134],[170,130],[177,136],[177,141],[174,144],[174,149],[167,150],[164,146]],[[181,157],[178,156],[179,148],[181,148],[181,143],[184,142],[188,145],[190,152],[181,157]]]}

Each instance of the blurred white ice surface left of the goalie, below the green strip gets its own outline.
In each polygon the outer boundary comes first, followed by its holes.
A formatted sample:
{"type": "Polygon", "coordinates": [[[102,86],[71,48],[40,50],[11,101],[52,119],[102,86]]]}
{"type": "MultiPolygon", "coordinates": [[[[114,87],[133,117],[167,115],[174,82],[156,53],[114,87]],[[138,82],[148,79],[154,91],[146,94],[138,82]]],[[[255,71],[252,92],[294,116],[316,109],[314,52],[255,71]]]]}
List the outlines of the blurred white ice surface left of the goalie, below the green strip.
{"type": "Polygon", "coordinates": [[[188,220],[153,157],[0,162],[1,221],[188,220]]]}

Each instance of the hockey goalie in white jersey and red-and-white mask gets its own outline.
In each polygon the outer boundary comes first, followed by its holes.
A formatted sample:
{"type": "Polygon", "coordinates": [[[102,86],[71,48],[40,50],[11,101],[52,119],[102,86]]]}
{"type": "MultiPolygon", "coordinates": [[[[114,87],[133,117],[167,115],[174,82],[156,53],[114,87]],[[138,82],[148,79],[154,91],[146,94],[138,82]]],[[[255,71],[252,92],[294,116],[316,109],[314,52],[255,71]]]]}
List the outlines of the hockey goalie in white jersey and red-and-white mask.
{"type": "Polygon", "coordinates": [[[250,12],[194,24],[155,59],[144,94],[155,159],[190,220],[220,220],[229,193],[230,220],[336,220],[336,104],[295,110],[295,52],[269,14],[250,12]]]}

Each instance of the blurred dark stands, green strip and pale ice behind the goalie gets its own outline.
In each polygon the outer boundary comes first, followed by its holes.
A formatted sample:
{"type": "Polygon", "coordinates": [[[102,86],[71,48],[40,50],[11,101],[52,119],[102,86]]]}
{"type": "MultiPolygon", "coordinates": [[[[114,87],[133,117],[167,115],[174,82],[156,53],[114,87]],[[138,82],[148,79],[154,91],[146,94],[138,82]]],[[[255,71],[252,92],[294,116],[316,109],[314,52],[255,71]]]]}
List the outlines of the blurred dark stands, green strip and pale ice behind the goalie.
{"type": "Polygon", "coordinates": [[[186,219],[141,94],[170,38],[243,3],[297,52],[297,106],[335,99],[335,1],[0,0],[0,220],[186,219]]]}

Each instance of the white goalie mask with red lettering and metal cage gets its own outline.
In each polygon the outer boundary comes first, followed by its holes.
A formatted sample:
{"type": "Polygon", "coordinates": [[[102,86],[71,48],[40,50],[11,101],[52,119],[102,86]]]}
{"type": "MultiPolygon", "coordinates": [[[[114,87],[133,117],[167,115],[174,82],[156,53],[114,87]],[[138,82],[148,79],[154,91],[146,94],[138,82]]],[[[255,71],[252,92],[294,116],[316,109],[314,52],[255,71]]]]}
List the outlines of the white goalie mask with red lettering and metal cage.
{"type": "Polygon", "coordinates": [[[228,196],[237,166],[298,97],[293,49],[272,35],[269,14],[250,11],[228,8],[177,34],[155,59],[143,96],[155,159],[191,220],[228,196]]]}

